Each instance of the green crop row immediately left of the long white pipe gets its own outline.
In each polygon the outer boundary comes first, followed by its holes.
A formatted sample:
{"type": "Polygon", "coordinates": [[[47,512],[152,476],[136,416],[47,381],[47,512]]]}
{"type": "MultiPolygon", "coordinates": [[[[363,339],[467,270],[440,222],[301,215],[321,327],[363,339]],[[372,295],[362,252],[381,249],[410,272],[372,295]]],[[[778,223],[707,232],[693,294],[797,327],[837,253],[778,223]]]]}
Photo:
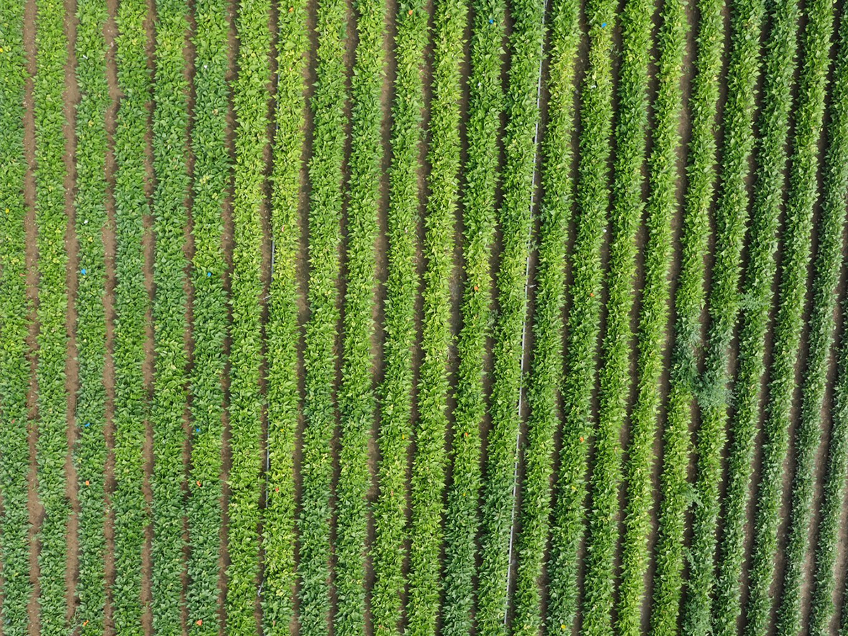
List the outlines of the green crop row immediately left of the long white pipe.
{"type": "Polygon", "coordinates": [[[522,423],[522,371],[527,326],[527,259],[533,231],[538,95],[545,36],[545,0],[512,0],[509,89],[506,93],[501,250],[494,329],[491,427],[486,444],[483,537],[477,583],[477,629],[506,629],[510,596],[516,461],[522,423]]]}

